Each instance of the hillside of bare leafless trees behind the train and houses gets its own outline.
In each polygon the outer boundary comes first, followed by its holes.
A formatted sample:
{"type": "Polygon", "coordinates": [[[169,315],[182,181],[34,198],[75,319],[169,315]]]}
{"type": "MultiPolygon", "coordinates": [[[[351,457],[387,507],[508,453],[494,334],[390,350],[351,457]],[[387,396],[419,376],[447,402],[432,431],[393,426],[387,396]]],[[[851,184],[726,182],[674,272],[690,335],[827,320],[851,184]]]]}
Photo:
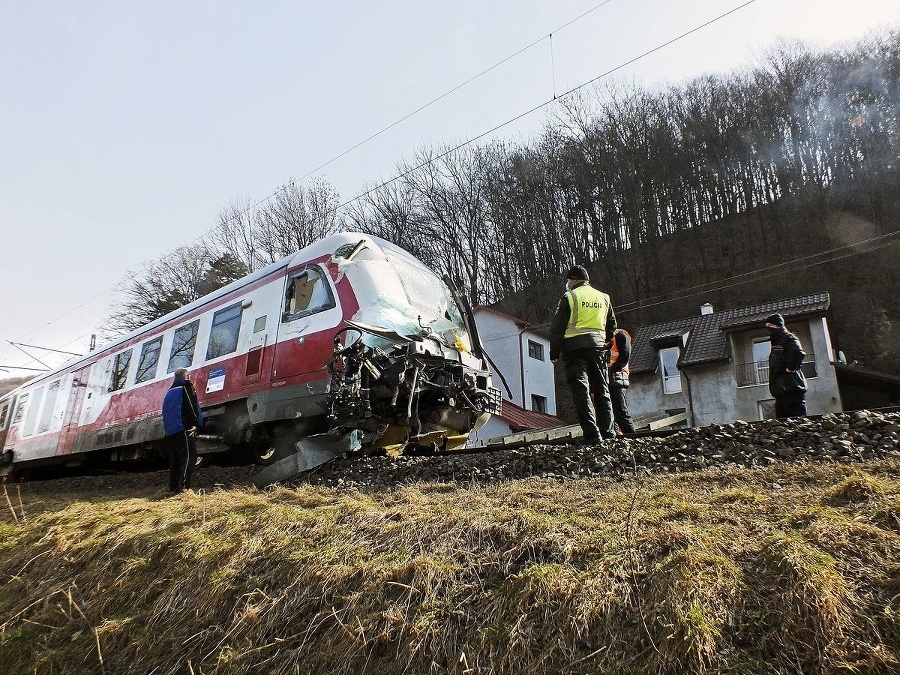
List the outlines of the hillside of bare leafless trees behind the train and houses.
{"type": "MultiPolygon", "coordinates": [[[[900,372],[898,167],[894,28],[823,51],[778,44],[744,70],[666,88],[605,82],[560,98],[531,141],[423,148],[343,206],[320,180],[235,203],[205,245],[237,273],[361,230],[449,274],[473,305],[535,324],[573,262],[631,328],[703,302],[829,291],[848,359],[900,372]]],[[[204,278],[219,277],[232,278],[204,278]]],[[[168,306],[146,281],[134,277],[113,319],[168,306]]]]}

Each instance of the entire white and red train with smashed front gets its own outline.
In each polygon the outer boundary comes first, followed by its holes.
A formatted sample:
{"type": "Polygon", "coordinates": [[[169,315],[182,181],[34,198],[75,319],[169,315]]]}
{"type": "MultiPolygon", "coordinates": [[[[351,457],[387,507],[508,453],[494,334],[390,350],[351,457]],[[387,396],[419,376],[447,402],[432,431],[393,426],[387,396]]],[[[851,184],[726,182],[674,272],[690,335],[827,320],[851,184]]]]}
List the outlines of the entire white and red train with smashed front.
{"type": "Polygon", "coordinates": [[[200,452],[270,462],[299,441],[452,449],[497,412],[465,300],[403,249],[327,237],[0,397],[0,468],[158,449],[186,367],[200,452]]]}

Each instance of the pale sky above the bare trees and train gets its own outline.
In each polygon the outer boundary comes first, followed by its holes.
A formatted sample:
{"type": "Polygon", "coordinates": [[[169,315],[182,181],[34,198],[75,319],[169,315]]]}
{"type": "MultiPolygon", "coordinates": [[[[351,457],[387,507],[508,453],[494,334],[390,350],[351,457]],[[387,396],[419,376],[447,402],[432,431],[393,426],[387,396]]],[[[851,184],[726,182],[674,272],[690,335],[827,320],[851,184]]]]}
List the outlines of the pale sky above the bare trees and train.
{"type": "MultiPolygon", "coordinates": [[[[327,164],[312,175],[347,201],[418,148],[477,137],[745,2],[3,0],[0,367],[41,367],[8,341],[86,352],[128,272],[236,199],[327,164]]],[[[611,77],[680,83],[752,65],[779,37],[829,46],[898,24],[896,0],[755,0],[611,77]]],[[[479,142],[527,141],[547,114],[479,142]]]]}

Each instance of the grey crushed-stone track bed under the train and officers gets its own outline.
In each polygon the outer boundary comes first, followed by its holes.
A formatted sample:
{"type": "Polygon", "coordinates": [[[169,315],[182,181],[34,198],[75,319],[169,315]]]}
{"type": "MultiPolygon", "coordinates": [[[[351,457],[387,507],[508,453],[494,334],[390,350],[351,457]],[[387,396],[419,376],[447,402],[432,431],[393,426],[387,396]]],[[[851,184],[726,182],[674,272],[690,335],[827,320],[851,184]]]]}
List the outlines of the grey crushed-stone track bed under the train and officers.
{"type": "MultiPolygon", "coordinates": [[[[530,477],[580,479],[634,474],[757,468],[781,463],[855,463],[887,460],[900,467],[900,412],[828,414],[789,420],[735,422],[727,425],[660,429],[601,442],[578,444],[578,427],[513,434],[507,440],[446,453],[346,454],[280,481],[335,488],[392,489],[409,483],[491,483],[530,477]]],[[[492,439],[493,440],[493,439],[492,439]]],[[[162,490],[157,465],[144,472],[98,470],[47,480],[60,490],[92,481],[112,489],[118,484],[162,490]]],[[[195,473],[195,487],[255,484],[262,469],[211,464],[195,473]]],[[[35,476],[37,479],[38,476],[35,476]]],[[[39,483],[33,480],[32,483],[39,483]]],[[[27,484],[26,484],[27,485],[27,484]]]]}

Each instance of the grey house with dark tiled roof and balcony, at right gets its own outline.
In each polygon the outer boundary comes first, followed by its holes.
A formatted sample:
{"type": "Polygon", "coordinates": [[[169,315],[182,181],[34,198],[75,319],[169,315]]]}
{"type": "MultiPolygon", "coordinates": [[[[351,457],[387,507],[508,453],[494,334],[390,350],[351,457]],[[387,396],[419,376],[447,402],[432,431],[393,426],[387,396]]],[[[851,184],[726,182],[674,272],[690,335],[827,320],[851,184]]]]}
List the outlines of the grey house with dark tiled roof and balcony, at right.
{"type": "Polygon", "coordinates": [[[810,415],[842,410],[828,323],[828,293],[714,311],[639,328],[632,339],[632,416],[685,414],[686,424],[725,424],[774,416],[769,394],[769,337],[765,318],[784,316],[806,361],[810,415]]]}

